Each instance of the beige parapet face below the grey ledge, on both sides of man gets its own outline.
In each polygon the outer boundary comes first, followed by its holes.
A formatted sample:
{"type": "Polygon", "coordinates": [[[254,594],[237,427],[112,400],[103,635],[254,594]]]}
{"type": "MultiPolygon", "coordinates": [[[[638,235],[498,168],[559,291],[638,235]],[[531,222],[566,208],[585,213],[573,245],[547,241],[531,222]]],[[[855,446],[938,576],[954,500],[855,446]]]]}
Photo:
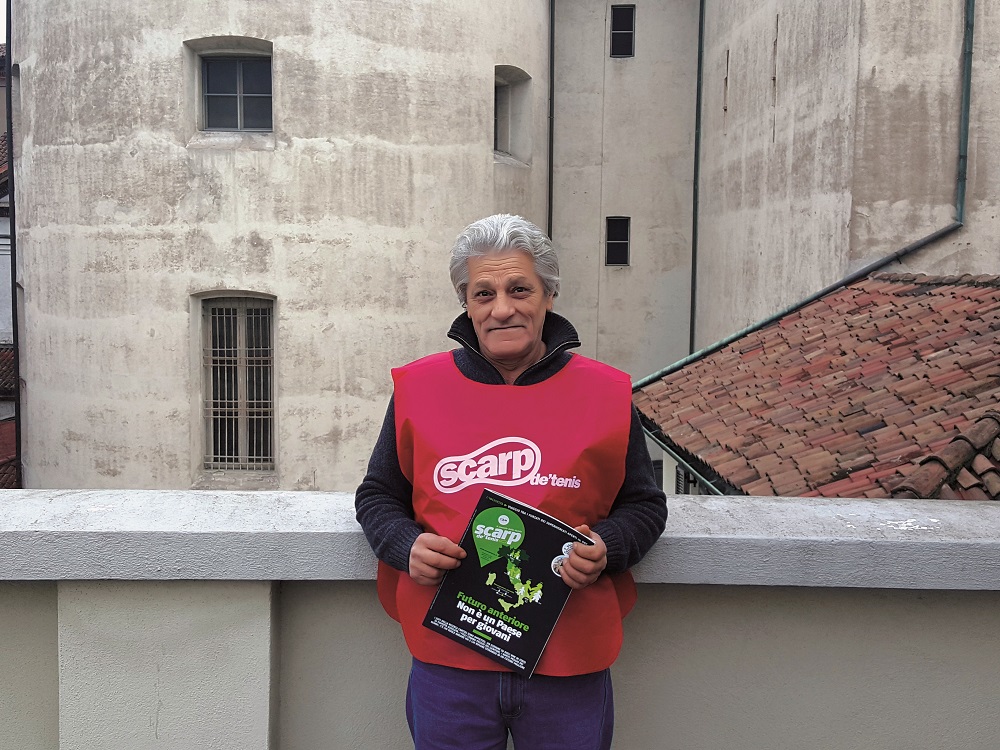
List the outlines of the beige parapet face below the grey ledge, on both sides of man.
{"type": "MultiPolygon", "coordinates": [[[[284,584],[276,620],[281,666],[270,678],[264,642],[254,638],[258,647],[246,649],[242,640],[267,606],[242,612],[249,624],[227,609],[238,587],[250,585],[95,582],[60,585],[58,594],[53,584],[0,586],[6,618],[37,609],[29,597],[48,615],[30,628],[0,631],[8,644],[0,658],[22,667],[3,665],[3,694],[17,699],[13,710],[0,702],[5,743],[268,747],[262,683],[274,679],[277,747],[406,747],[409,660],[374,584],[284,584]],[[59,611],[72,615],[58,623],[61,703],[57,599],[59,611]],[[166,620],[146,619],[156,612],[166,620]],[[170,612],[194,619],[182,623],[170,612]]],[[[612,670],[615,747],[995,745],[996,592],[644,584],[639,597],[612,670]]]]}

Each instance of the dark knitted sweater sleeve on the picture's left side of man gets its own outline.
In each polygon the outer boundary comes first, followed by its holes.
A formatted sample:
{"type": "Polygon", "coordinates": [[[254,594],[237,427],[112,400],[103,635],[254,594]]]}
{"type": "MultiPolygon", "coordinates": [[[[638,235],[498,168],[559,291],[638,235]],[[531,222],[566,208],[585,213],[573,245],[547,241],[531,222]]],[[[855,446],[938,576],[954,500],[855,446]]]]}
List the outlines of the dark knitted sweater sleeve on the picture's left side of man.
{"type": "Polygon", "coordinates": [[[375,556],[407,572],[410,548],[423,530],[413,520],[413,485],[399,468],[395,399],[389,399],[368,473],[354,496],[354,508],[375,556]]]}

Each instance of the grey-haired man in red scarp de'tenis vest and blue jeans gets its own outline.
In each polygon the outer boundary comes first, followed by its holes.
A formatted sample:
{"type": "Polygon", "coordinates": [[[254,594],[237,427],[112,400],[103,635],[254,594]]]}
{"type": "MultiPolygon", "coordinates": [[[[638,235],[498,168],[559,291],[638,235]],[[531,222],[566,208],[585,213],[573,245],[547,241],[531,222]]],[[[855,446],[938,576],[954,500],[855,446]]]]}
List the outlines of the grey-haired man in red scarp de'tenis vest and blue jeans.
{"type": "Polygon", "coordinates": [[[466,308],[449,332],[461,348],[393,371],[393,400],[356,500],[380,560],[379,596],[414,657],[414,744],[502,750],[509,732],[517,750],[607,748],[608,668],[635,600],[627,571],[666,521],[629,379],[568,351],[580,342],[552,312],[558,258],[531,222],[501,214],[469,225],[450,271],[466,308]],[[488,486],[442,492],[435,467],[511,435],[539,447],[542,473],[579,481],[553,487],[525,478],[500,489],[594,541],[575,544],[561,567],[574,593],[530,680],[422,627],[435,587],[461,564],[457,542],[488,486]]]}

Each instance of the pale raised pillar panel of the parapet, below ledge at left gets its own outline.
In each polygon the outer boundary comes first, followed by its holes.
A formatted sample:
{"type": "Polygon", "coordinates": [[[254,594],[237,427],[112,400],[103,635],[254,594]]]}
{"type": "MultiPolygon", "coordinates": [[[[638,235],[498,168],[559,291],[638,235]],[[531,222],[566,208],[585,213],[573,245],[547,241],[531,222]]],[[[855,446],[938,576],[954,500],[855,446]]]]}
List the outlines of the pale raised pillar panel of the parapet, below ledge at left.
{"type": "Polygon", "coordinates": [[[271,747],[270,592],[264,581],[61,582],[60,750],[271,747]]]}

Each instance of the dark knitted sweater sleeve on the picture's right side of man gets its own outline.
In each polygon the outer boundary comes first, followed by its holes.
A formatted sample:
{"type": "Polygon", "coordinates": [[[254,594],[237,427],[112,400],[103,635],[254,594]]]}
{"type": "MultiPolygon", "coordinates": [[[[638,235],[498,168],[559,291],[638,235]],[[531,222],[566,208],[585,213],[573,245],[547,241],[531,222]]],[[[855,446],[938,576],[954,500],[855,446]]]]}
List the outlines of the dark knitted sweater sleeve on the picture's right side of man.
{"type": "Polygon", "coordinates": [[[625,480],[611,513],[593,527],[607,545],[609,573],[620,573],[639,562],[667,522],[667,498],[656,484],[639,414],[634,406],[631,409],[625,480]]]}

